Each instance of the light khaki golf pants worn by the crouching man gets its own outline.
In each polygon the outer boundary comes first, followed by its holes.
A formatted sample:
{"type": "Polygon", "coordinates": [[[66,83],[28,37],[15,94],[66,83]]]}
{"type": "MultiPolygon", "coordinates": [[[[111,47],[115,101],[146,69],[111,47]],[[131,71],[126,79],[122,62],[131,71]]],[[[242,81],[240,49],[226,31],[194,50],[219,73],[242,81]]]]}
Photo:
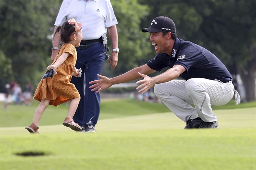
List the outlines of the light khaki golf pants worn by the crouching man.
{"type": "Polygon", "coordinates": [[[154,87],[155,95],[184,122],[198,116],[204,122],[216,122],[211,105],[227,104],[233,98],[234,90],[232,83],[205,78],[171,80],[154,87]]]}

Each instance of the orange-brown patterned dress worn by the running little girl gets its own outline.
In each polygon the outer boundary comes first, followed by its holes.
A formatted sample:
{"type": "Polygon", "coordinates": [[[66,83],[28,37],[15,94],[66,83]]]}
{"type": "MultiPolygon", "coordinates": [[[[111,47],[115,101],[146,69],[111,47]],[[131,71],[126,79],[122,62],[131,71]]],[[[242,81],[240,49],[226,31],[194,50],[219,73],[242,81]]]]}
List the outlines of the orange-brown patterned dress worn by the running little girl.
{"type": "Polygon", "coordinates": [[[42,99],[49,99],[50,105],[58,107],[58,105],[80,97],[78,90],[75,85],[70,83],[72,75],[75,71],[75,64],[77,53],[76,49],[72,44],[63,44],[59,49],[58,55],[52,64],[63,53],[70,53],[71,55],[67,57],[66,61],[62,63],[54,74],[53,78],[47,77],[46,79],[41,79],[38,87],[35,91],[34,99],[41,102],[42,99]]]}

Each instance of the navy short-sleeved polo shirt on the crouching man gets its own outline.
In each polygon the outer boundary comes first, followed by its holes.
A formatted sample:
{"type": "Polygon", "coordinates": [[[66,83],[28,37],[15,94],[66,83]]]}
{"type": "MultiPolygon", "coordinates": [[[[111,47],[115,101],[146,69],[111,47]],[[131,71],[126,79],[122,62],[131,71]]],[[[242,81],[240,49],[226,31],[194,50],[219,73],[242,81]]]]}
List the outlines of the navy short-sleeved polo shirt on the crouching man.
{"type": "Polygon", "coordinates": [[[206,78],[217,79],[223,83],[232,80],[226,66],[214,54],[193,42],[178,38],[175,40],[171,56],[165,53],[157,54],[147,64],[155,71],[181,65],[186,68],[186,71],[180,75],[184,80],[206,78]]]}

